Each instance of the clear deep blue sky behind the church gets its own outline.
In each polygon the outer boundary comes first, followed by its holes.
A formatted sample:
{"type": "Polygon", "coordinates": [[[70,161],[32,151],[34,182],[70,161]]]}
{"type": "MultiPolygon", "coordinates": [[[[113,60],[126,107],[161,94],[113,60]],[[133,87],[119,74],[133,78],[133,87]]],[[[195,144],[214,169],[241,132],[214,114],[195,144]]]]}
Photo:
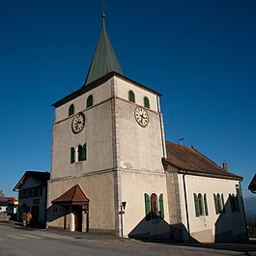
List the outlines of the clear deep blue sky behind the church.
{"type": "MultiPolygon", "coordinates": [[[[126,76],[162,94],[167,140],[243,177],[256,172],[256,2],[106,1],[106,29],[126,76]]],[[[0,189],[50,170],[51,104],[83,85],[101,1],[0,0],[0,189]]]]}

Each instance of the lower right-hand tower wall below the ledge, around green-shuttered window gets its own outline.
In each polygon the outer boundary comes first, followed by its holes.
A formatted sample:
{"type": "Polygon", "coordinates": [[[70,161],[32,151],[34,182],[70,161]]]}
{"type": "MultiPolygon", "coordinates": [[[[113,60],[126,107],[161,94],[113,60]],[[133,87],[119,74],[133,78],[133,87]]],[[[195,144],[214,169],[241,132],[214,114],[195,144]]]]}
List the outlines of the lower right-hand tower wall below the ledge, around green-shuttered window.
{"type": "MultiPolygon", "coordinates": [[[[122,172],[122,202],[127,202],[124,220],[124,236],[128,234],[145,234],[149,233],[151,236],[169,233],[169,228],[161,223],[156,223],[155,230],[152,229],[152,222],[145,220],[145,199],[144,194],[149,196],[155,193],[157,198],[163,194],[164,202],[164,221],[169,223],[169,210],[167,207],[167,191],[165,175],[138,173],[131,170],[122,172]],[[160,224],[160,225],[157,225],[160,224]]],[[[159,210],[159,209],[158,209],[159,210]]]]}

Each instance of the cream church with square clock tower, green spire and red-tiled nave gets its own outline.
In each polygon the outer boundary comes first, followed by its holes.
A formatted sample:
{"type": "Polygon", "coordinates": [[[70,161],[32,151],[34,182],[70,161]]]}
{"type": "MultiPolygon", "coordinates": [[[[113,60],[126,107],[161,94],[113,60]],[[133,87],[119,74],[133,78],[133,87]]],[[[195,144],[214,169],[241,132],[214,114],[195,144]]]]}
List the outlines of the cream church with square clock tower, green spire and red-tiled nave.
{"type": "Polygon", "coordinates": [[[244,242],[242,177],[165,141],[160,94],[126,77],[105,29],[84,85],[53,103],[47,228],[244,242]]]}

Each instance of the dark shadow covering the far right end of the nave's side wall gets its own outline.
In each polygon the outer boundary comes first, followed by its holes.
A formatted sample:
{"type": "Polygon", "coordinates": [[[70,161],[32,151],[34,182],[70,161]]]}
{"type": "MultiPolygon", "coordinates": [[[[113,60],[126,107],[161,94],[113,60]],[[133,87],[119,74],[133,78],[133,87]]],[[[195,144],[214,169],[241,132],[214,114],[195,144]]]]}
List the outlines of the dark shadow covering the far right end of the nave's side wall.
{"type": "Polygon", "coordinates": [[[230,195],[226,204],[217,202],[214,196],[215,222],[214,242],[248,242],[246,222],[240,196],[230,195]]]}

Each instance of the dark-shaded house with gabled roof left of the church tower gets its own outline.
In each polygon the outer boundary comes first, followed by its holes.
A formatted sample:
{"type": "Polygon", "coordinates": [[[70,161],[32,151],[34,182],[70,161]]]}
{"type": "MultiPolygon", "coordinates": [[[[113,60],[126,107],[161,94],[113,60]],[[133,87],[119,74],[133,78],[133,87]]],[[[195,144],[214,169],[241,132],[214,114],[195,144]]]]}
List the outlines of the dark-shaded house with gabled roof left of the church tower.
{"type": "Polygon", "coordinates": [[[48,172],[26,171],[14,186],[18,192],[17,219],[22,220],[23,213],[32,213],[31,224],[44,227],[46,223],[48,172]]]}

